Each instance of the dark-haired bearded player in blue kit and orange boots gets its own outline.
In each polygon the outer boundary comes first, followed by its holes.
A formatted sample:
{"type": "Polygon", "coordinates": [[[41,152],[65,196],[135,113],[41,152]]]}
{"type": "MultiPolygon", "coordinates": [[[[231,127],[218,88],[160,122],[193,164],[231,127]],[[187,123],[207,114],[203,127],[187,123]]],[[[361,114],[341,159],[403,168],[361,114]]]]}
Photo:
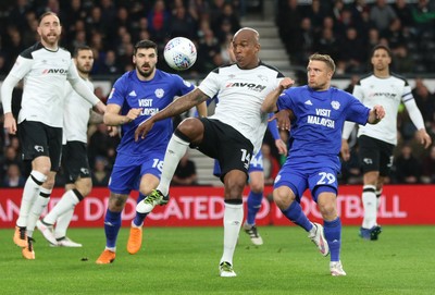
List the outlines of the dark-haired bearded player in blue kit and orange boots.
{"type": "MultiPolygon", "coordinates": [[[[140,201],[158,186],[164,152],[173,132],[173,123],[169,118],[154,124],[146,140],[135,142],[136,127],[164,109],[175,97],[195,89],[194,85],[179,75],[156,69],[158,49],[151,40],[141,40],[135,45],[133,62],[135,70],[125,73],[113,85],[104,114],[107,125],[121,125],[122,139],[109,182],[110,198],[104,216],[107,242],[96,261],[99,265],[111,263],[115,259],[121,214],[129,193],[139,190],[140,201]]],[[[198,107],[198,112],[207,115],[206,103],[198,107]]],[[[164,204],[162,201],[161,205],[164,204]]],[[[137,213],[132,221],[127,243],[129,254],[140,249],[146,216],[137,213]]]]}

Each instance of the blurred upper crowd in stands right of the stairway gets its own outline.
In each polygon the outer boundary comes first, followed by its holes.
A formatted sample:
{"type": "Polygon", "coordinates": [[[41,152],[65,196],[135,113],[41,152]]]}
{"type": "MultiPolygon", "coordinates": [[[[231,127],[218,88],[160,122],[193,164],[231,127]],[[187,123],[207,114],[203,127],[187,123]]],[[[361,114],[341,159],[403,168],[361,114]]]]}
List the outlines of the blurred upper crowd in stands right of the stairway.
{"type": "Polygon", "coordinates": [[[313,52],[330,54],[337,74],[370,70],[373,46],[387,45],[399,73],[435,72],[435,1],[279,0],[276,25],[290,61],[304,66],[313,52]],[[370,2],[370,3],[369,3],[370,2]]]}

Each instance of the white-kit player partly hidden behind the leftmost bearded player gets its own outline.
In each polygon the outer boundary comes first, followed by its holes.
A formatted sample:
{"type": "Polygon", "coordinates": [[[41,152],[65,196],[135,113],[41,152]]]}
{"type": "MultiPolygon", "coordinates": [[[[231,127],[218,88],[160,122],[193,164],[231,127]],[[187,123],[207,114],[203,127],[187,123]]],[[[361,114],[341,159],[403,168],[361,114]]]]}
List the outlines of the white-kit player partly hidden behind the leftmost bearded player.
{"type": "MultiPolygon", "coordinates": [[[[78,75],[94,91],[89,73],[94,65],[94,52],[88,46],[74,51],[74,63],[78,75]]],[[[65,173],[65,193],[60,201],[36,225],[44,237],[53,246],[82,247],[66,236],[66,230],[74,214],[75,206],[92,189],[92,180],[87,152],[88,122],[101,123],[102,115],[92,113],[92,106],[84,100],[71,86],[66,88],[63,114],[62,167],[65,173]],[[55,223],[55,228],[53,226],[55,223]]],[[[113,128],[112,131],[115,131],[113,128]]]]}

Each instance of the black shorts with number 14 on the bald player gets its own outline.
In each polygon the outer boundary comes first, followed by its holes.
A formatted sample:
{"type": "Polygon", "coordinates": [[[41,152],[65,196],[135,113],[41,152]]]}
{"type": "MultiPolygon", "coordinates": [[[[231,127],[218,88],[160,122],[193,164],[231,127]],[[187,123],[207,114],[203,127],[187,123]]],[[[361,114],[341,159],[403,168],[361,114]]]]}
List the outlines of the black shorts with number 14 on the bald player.
{"type": "Polygon", "coordinates": [[[216,159],[221,167],[221,181],[232,170],[241,170],[248,175],[249,162],[252,157],[251,142],[232,126],[219,120],[201,118],[203,139],[197,148],[202,153],[216,159]]]}

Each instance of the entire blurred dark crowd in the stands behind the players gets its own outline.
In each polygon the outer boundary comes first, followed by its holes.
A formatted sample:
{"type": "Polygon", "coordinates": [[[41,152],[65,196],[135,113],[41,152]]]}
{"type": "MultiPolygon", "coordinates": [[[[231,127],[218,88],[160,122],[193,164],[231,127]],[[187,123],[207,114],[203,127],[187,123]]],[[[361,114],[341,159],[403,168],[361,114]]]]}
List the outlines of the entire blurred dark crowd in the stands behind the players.
{"type": "MultiPolygon", "coordinates": [[[[176,36],[194,40],[198,60],[188,76],[201,77],[229,61],[226,48],[240,28],[247,0],[14,0],[0,1],[0,76],[9,73],[17,54],[37,40],[38,16],[46,11],[60,15],[63,26],[61,45],[73,51],[78,45],[92,48],[96,61],[92,76],[117,78],[133,69],[133,46],[140,39],[158,42],[162,52],[165,42],[176,36]]],[[[258,1],[261,2],[261,1],[258,1]]],[[[331,54],[337,74],[348,75],[352,90],[359,76],[370,71],[368,57],[376,44],[386,44],[394,52],[393,70],[407,76],[435,73],[435,1],[297,1],[275,0],[275,24],[294,69],[302,69],[313,52],[331,54]]],[[[161,54],[162,56],[162,54],[161,54]]],[[[167,65],[159,61],[158,67],[167,65]]],[[[297,77],[304,83],[304,72],[297,77]]],[[[435,134],[435,94],[424,79],[417,78],[413,95],[422,111],[426,128],[435,134]]],[[[97,96],[105,101],[101,88],[97,96]]],[[[14,90],[15,114],[20,109],[21,89],[14,90]]],[[[0,124],[2,124],[2,110],[0,124]]],[[[435,183],[435,147],[425,150],[414,139],[415,130],[407,112],[398,116],[399,144],[390,183],[435,183]]],[[[355,136],[353,136],[355,137],[355,136]]],[[[355,144],[356,140],[353,140],[355,144]]],[[[89,162],[94,185],[105,186],[116,153],[119,138],[110,137],[103,124],[89,126],[89,162]]],[[[0,133],[0,187],[22,187],[29,171],[21,160],[15,136],[0,133]]],[[[359,184],[362,174],[358,146],[343,163],[341,183],[359,184]]],[[[268,184],[273,182],[284,162],[266,134],[263,146],[268,184]]],[[[186,161],[188,156],[186,156],[186,161]]],[[[191,162],[191,161],[190,161],[191,162]]],[[[179,169],[183,171],[183,168],[179,169]]],[[[188,170],[195,171],[191,163],[188,170]]],[[[183,172],[186,174],[186,172],[183,172]]],[[[182,174],[183,174],[182,173],[182,174]]],[[[212,173],[212,171],[210,171],[212,173]]],[[[191,179],[197,183],[196,175],[191,179]]],[[[57,185],[62,186],[62,173],[57,185]]]]}

